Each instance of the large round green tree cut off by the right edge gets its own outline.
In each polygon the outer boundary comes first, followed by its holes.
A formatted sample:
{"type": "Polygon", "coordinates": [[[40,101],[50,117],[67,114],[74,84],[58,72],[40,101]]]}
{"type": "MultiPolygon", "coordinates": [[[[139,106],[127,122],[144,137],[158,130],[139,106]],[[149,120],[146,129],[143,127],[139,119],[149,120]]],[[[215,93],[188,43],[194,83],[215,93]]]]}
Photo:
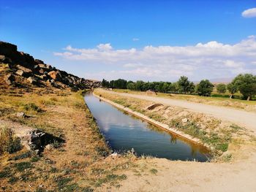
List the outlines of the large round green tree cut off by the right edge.
{"type": "Polygon", "coordinates": [[[247,100],[252,99],[256,94],[256,76],[253,74],[238,74],[232,81],[233,85],[247,100]]]}

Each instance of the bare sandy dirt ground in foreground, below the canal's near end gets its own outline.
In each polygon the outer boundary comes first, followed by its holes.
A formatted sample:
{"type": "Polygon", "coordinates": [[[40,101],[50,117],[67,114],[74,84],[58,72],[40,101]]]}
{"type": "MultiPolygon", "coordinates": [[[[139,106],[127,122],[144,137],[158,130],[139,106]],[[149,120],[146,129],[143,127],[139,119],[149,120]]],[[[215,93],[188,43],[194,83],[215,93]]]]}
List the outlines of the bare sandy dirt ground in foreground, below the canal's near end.
{"type": "Polygon", "coordinates": [[[126,173],[118,191],[256,191],[256,156],[233,164],[152,159],[157,174],[126,173]]]}

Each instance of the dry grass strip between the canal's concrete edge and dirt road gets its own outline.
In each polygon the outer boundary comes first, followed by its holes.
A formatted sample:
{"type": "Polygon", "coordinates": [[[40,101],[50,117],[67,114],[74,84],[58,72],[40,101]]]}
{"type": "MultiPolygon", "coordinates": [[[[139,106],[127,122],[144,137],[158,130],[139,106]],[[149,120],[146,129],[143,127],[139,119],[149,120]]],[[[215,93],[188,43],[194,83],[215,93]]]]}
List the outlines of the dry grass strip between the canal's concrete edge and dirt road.
{"type": "Polygon", "coordinates": [[[214,161],[219,161],[223,158],[226,161],[227,156],[231,159],[232,153],[235,153],[235,151],[232,151],[229,145],[239,147],[241,144],[250,143],[255,140],[255,137],[249,134],[245,128],[203,113],[189,112],[189,110],[181,107],[165,105],[156,107],[154,110],[148,110],[147,107],[154,104],[151,101],[106,93],[101,89],[97,89],[94,93],[200,139],[211,147],[214,161]],[[183,122],[183,119],[186,119],[186,122],[183,122]]]}

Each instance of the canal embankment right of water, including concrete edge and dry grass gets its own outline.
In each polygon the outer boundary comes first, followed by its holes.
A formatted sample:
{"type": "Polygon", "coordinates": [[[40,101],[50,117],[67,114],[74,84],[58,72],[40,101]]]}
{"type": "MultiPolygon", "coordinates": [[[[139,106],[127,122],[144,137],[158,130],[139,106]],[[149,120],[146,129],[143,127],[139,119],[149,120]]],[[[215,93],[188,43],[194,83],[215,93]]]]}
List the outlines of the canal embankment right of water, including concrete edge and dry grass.
{"type": "Polygon", "coordinates": [[[241,143],[252,142],[254,138],[246,128],[183,107],[162,104],[153,110],[148,110],[148,106],[156,103],[120,96],[113,91],[103,89],[95,90],[94,95],[120,110],[211,149],[215,160],[226,156],[231,158],[241,143]]]}

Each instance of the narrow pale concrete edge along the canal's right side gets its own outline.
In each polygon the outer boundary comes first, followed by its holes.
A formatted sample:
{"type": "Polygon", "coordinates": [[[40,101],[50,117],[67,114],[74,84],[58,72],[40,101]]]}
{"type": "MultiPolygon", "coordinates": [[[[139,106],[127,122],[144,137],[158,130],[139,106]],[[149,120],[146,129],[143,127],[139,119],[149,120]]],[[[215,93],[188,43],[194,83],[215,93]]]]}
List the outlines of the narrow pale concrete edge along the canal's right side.
{"type": "Polygon", "coordinates": [[[203,143],[200,141],[200,139],[196,138],[196,137],[192,137],[190,136],[189,134],[185,134],[184,132],[182,131],[178,131],[176,130],[176,128],[171,128],[169,127],[167,124],[165,123],[161,123],[157,120],[154,120],[154,119],[151,119],[151,118],[148,118],[148,116],[146,115],[143,115],[141,114],[140,112],[135,112],[134,110],[131,110],[129,109],[128,107],[124,107],[123,105],[121,104],[117,104],[113,101],[110,101],[109,99],[105,99],[104,97],[102,96],[98,96],[97,94],[95,94],[94,92],[92,93],[94,96],[96,96],[98,99],[101,99],[102,101],[105,101],[111,105],[113,105],[114,107],[118,108],[119,110],[122,110],[124,112],[127,112],[131,115],[134,115],[135,117],[137,118],[140,118],[142,120],[146,120],[148,123],[151,123],[153,124],[154,126],[157,126],[159,128],[162,128],[163,130],[167,131],[167,132],[170,132],[172,134],[175,134],[177,135],[178,137],[182,137],[184,139],[187,139],[188,141],[190,142],[193,142],[195,143],[196,145],[201,145],[203,147],[206,147],[208,150],[211,150],[211,147],[209,145],[207,145],[206,143],[203,143]]]}

